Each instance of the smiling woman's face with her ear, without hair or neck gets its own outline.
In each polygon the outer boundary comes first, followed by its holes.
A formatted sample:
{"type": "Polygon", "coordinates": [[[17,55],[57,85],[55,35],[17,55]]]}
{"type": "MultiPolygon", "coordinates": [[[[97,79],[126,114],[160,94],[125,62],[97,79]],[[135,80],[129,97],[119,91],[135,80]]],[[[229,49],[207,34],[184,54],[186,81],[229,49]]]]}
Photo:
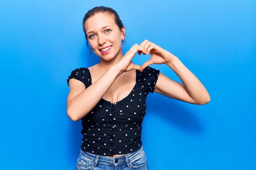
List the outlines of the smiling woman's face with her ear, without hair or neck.
{"type": "MultiPolygon", "coordinates": [[[[100,58],[108,61],[122,55],[124,34],[111,15],[95,14],[84,23],[84,29],[92,50],[100,58]]],[[[125,31],[125,28],[122,30],[125,31]]]]}

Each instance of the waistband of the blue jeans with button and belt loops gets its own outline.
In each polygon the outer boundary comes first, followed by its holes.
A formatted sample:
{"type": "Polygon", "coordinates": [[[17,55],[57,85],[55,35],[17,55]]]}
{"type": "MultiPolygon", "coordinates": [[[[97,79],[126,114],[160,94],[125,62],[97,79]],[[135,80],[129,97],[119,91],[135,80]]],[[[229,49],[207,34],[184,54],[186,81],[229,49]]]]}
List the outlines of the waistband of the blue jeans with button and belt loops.
{"type": "Polygon", "coordinates": [[[81,148],[80,148],[80,153],[83,156],[85,156],[87,159],[94,161],[95,166],[99,162],[102,164],[109,164],[109,165],[115,164],[116,166],[119,164],[124,164],[124,163],[128,164],[129,161],[136,158],[141,152],[144,152],[143,146],[141,146],[140,149],[138,149],[132,153],[127,153],[122,156],[116,156],[116,157],[112,158],[112,157],[105,157],[105,156],[95,155],[93,153],[85,152],[84,150],[81,150],[81,148]],[[116,159],[118,160],[117,163],[116,163],[116,159]]]}

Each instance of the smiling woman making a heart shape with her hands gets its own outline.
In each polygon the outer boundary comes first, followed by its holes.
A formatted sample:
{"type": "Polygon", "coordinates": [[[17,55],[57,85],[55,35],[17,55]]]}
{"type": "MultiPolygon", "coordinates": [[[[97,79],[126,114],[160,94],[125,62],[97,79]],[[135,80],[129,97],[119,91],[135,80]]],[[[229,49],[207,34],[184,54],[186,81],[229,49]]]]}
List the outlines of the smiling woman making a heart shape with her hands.
{"type": "Polygon", "coordinates": [[[204,105],[210,101],[201,82],[180,60],[148,40],[135,44],[123,55],[125,27],[112,8],[100,6],[87,12],[83,20],[85,37],[100,62],[76,68],[67,79],[67,115],[81,119],[82,139],[78,170],[147,170],[141,142],[145,99],[149,92],[204,105]],[[142,66],[131,59],[138,52],[150,54],[142,66]],[[183,84],[175,82],[152,64],[168,65],[183,84]]]}

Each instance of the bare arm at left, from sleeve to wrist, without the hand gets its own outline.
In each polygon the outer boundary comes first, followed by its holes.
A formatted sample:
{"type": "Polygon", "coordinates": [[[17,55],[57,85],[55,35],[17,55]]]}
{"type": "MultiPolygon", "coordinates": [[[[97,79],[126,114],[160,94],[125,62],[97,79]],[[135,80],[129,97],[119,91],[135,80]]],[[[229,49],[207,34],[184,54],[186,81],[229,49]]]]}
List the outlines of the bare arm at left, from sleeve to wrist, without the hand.
{"type": "Polygon", "coordinates": [[[70,92],[67,96],[67,116],[73,121],[77,121],[87,115],[121,74],[122,72],[119,69],[111,67],[88,88],[85,88],[85,85],[79,80],[70,79],[70,92]]]}

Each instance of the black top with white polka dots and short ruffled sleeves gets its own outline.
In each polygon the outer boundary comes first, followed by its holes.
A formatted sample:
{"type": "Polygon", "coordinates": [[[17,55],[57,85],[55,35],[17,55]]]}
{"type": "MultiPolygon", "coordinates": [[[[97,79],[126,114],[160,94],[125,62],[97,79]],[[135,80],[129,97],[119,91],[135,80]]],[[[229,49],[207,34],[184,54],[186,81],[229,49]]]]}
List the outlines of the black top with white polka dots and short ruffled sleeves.
{"type": "MultiPolygon", "coordinates": [[[[127,154],[140,149],[145,101],[148,93],[154,92],[159,72],[149,66],[143,72],[136,70],[136,83],[128,96],[115,103],[101,99],[81,119],[81,149],[101,156],[127,154]]],[[[83,82],[86,88],[92,84],[88,68],[73,70],[67,79],[68,85],[71,78],[83,82]]]]}

